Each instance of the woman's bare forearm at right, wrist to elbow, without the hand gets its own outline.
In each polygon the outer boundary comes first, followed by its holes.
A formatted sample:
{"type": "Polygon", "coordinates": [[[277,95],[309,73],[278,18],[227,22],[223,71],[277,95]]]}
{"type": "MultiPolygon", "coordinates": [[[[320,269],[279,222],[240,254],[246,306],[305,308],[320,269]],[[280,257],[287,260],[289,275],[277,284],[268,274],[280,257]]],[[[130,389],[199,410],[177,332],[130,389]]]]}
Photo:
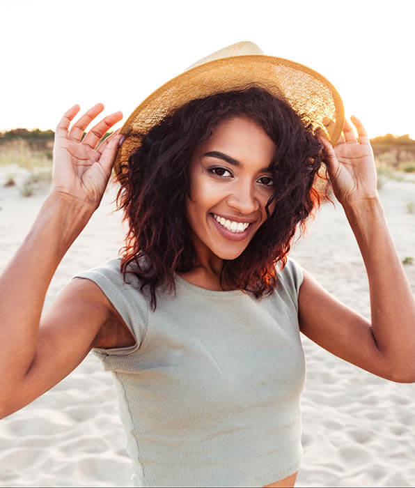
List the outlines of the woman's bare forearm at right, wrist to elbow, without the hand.
{"type": "Polygon", "coordinates": [[[382,357],[405,381],[415,381],[415,300],[379,200],[346,206],[368,273],[373,337],[382,357]]]}

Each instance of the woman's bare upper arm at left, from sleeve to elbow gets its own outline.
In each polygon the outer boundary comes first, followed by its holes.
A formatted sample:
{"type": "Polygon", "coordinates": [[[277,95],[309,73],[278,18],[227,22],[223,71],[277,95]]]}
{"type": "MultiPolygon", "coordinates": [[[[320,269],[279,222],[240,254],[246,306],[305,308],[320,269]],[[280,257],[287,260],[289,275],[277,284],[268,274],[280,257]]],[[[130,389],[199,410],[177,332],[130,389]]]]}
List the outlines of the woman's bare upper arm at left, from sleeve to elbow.
{"type": "MultiPolygon", "coordinates": [[[[101,346],[102,336],[116,330],[116,315],[111,308],[93,282],[71,280],[40,321],[33,360],[26,374],[15,374],[1,391],[0,418],[33,402],[72,372],[92,347],[101,346]]],[[[21,346],[24,344],[21,341],[21,346]]],[[[13,358],[10,369],[15,369],[13,358]]]]}

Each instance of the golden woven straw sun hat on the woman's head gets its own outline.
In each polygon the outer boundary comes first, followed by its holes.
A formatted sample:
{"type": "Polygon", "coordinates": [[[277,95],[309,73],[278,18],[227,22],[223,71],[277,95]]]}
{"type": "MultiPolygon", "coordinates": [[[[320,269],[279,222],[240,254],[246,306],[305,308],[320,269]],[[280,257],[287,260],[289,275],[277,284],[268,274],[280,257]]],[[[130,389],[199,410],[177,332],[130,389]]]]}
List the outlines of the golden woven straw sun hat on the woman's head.
{"type": "Polygon", "coordinates": [[[151,93],[128,117],[120,133],[125,141],[118,150],[114,171],[128,171],[128,157],[147,132],[166,114],[194,98],[204,98],[255,83],[304,114],[336,144],[343,128],[343,103],[334,86],[302,64],[266,56],[256,44],[242,41],[197,61],[151,93]]]}

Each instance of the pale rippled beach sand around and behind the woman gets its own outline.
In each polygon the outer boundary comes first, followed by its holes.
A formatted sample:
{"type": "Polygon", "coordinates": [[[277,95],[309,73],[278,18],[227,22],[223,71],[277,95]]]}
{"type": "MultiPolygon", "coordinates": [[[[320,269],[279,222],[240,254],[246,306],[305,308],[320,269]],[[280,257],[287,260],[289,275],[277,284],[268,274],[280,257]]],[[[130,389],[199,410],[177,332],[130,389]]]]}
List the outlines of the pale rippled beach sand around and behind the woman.
{"type": "MultiPolygon", "coordinates": [[[[0,188],[0,270],[45,195],[43,189],[25,198],[16,187],[0,188]]],[[[111,213],[113,195],[110,188],[63,259],[46,307],[72,275],[116,256],[123,228],[111,213]]],[[[415,184],[386,181],[380,196],[400,258],[415,257],[415,213],[407,212],[415,184]]],[[[363,261],[340,205],[323,206],[291,255],[334,296],[370,317],[363,261]]],[[[415,292],[415,263],[405,273],[415,292]]],[[[296,486],[414,486],[415,384],[386,381],[302,340],[304,458],[296,486]]],[[[55,388],[0,422],[1,486],[131,486],[131,475],[111,374],[92,354],[55,388]]]]}

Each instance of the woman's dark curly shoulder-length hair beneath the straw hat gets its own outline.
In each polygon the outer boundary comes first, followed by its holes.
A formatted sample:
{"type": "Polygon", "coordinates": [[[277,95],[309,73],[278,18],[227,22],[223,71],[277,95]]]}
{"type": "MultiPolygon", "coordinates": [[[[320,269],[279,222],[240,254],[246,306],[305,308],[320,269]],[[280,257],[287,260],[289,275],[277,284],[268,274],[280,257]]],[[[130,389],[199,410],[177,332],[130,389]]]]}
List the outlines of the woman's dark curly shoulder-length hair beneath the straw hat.
{"type": "Polygon", "coordinates": [[[276,261],[285,266],[297,227],[304,233],[306,219],[328,197],[328,180],[318,174],[322,143],[311,124],[265,89],[250,85],[175,109],[140,135],[141,145],[130,155],[117,195],[118,209],[129,224],[121,270],[124,279],[131,272],[139,277],[141,289],[150,287],[153,309],[157,287],[173,291],[175,273],[196,264],[185,212],[192,155],[221,121],[234,116],[256,121],[276,144],[270,167],[274,193],[267,203],[267,220],[244,252],[224,261],[221,283],[256,297],[272,292],[277,286],[276,261]],[[275,208],[269,215],[272,202],[275,208]]]}

